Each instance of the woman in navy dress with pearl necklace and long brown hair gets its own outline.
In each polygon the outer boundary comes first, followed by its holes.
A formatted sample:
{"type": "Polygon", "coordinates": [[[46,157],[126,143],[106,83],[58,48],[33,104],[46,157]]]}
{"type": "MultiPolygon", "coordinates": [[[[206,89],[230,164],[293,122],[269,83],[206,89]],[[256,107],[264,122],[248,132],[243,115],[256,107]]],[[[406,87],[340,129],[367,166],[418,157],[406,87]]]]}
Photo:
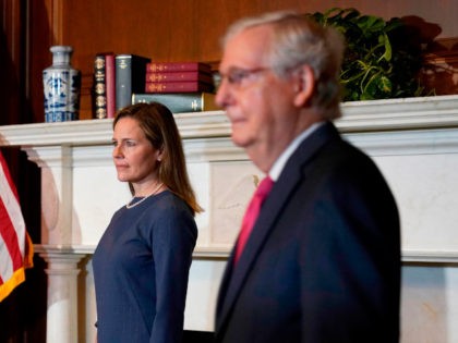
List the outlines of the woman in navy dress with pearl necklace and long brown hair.
{"type": "Polygon", "coordinates": [[[173,115],[159,103],[129,106],[114,119],[112,143],[118,179],[133,198],[93,257],[97,341],[180,342],[202,209],[173,115]]]}

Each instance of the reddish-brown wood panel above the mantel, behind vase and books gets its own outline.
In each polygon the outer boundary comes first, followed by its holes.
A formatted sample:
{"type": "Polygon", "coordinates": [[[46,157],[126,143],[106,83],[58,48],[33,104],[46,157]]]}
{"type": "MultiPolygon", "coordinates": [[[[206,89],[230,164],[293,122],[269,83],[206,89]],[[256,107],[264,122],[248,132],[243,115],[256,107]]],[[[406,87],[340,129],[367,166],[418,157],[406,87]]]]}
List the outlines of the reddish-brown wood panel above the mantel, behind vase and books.
{"type": "Polygon", "coordinates": [[[297,9],[325,11],[354,7],[362,13],[418,16],[441,26],[434,35],[458,36],[458,1],[442,0],[34,0],[29,1],[31,87],[35,121],[43,121],[41,70],[51,63],[51,45],[74,48],[72,64],[83,74],[81,119],[91,119],[93,60],[97,52],[138,53],[157,61],[217,62],[219,37],[244,15],[297,9]]]}

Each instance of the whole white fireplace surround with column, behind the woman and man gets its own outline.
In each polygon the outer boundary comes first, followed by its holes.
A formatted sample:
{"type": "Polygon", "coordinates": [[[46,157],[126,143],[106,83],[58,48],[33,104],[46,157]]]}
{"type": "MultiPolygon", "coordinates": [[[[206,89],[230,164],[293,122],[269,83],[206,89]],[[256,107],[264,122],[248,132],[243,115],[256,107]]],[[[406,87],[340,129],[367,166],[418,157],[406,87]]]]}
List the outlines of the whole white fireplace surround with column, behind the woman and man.
{"type": "MultiPolygon", "coordinates": [[[[395,194],[403,261],[457,264],[458,95],[347,102],[342,112],[337,127],[374,159],[395,194]]],[[[224,112],[181,113],[176,121],[190,179],[205,209],[196,217],[185,326],[212,330],[225,258],[253,179],[261,173],[231,143],[224,112]]],[[[111,125],[106,119],[0,126],[0,147],[20,146],[41,169],[41,242],[36,250],[48,261],[48,342],[77,341],[76,331],[56,331],[76,328],[76,266],[91,257],[112,213],[130,199],[112,166],[111,125]],[[59,290],[71,294],[52,303],[59,290]]],[[[91,275],[91,264],[86,268],[91,275]]],[[[93,292],[91,284],[87,289],[93,292]]],[[[87,341],[93,341],[95,320],[91,299],[87,295],[87,341]]]]}

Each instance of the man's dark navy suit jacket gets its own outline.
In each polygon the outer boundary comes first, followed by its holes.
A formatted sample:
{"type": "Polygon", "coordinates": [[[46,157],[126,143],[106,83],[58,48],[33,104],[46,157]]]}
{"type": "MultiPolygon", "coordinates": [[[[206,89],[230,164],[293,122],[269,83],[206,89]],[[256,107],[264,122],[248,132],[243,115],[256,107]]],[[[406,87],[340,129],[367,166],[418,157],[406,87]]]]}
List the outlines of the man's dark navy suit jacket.
{"type": "Polygon", "coordinates": [[[377,167],[332,123],[293,152],[219,290],[216,342],[391,343],[400,232],[377,167]]]}

